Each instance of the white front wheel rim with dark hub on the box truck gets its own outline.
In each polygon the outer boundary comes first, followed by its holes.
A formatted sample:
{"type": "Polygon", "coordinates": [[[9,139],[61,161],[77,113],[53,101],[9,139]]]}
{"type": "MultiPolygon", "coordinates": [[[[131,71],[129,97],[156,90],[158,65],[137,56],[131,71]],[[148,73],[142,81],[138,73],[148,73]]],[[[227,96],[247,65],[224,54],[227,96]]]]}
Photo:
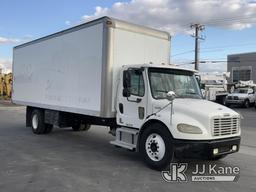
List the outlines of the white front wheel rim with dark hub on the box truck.
{"type": "Polygon", "coordinates": [[[145,147],[147,155],[151,160],[161,161],[163,159],[165,154],[165,143],[160,135],[156,133],[149,135],[145,147]]]}

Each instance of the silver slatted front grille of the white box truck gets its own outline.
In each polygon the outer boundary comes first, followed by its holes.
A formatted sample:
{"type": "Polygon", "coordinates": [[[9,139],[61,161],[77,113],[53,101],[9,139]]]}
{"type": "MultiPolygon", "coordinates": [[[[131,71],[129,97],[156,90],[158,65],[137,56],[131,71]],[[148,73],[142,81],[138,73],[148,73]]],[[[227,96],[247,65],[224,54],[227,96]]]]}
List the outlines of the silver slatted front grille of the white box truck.
{"type": "Polygon", "coordinates": [[[215,118],[213,119],[213,136],[233,135],[238,133],[240,119],[235,118],[215,118]]]}

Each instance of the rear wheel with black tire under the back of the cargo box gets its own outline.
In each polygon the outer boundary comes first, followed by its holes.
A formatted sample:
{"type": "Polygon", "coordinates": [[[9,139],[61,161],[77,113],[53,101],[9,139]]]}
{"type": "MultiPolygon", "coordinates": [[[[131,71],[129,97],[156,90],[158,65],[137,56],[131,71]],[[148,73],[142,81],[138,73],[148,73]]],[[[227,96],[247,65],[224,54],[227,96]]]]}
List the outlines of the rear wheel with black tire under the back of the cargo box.
{"type": "Polygon", "coordinates": [[[44,123],[44,113],[42,110],[34,109],[31,113],[31,128],[35,134],[44,134],[47,131],[46,124],[44,123]]]}

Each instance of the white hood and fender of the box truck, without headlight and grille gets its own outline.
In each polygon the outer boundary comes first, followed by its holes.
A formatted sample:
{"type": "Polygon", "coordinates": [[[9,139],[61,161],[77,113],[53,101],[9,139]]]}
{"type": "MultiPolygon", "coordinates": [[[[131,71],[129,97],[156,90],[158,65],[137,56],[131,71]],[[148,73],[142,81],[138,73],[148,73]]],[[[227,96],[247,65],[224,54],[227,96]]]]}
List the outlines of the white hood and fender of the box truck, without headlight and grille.
{"type": "MultiPolygon", "coordinates": [[[[158,101],[153,105],[154,112],[166,106],[167,100],[158,101]],[[161,103],[161,107],[160,104],[161,103]]],[[[153,118],[154,116],[152,116],[153,118]]],[[[223,105],[203,100],[192,98],[176,98],[173,101],[173,110],[171,105],[168,108],[157,113],[158,119],[161,119],[165,124],[171,125],[171,133],[177,139],[197,139],[207,140],[212,139],[213,120],[222,118],[240,118],[240,115],[232,109],[223,105]],[[173,115],[170,115],[170,112],[173,115]],[[168,120],[168,121],[167,121],[168,120]],[[202,134],[182,133],[177,130],[178,124],[188,124],[199,127],[202,134]]],[[[237,135],[239,135],[238,133],[237,135]]],[[[230,137],[234,135],[214,136],[215,139],[230,137]]]]}

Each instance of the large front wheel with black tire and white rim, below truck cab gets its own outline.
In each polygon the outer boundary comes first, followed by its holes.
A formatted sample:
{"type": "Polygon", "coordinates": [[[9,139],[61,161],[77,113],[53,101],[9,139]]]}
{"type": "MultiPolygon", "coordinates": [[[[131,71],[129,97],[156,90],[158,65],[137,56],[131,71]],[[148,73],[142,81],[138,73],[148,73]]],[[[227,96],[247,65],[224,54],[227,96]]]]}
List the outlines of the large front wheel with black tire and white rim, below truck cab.
{"type": "Polygon", "coordinates": [[[150,168],[162,170],[167,167],[174,156],[172,136],[169,130],[159,123],[149,125],[142,132],[139,152],[150,168]]]}

